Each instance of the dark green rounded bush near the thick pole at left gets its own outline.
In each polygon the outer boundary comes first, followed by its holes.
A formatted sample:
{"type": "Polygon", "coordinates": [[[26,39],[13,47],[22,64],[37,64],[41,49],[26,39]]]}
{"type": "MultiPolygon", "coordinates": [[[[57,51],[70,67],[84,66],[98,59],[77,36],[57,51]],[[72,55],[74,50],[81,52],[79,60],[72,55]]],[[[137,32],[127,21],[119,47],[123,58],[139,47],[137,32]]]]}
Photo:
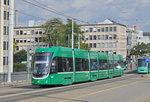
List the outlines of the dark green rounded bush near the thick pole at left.
{"type": "Polygon", "coordinates": [[[21,63],[21,61],[27,61],[27,52],[25,50],[21,50],[14,54],[14,62],[21,63]]]}

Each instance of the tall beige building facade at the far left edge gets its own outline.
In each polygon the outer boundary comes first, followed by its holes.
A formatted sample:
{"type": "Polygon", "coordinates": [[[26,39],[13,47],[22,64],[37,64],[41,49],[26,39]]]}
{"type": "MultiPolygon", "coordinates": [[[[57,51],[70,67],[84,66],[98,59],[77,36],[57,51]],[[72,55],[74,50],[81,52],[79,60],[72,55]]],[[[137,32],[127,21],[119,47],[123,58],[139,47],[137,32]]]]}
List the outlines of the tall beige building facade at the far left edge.
{"type": "Polygon", "coordinates": [[[9,0],[0,0],[0,73],[8,68],[9,0]]]}

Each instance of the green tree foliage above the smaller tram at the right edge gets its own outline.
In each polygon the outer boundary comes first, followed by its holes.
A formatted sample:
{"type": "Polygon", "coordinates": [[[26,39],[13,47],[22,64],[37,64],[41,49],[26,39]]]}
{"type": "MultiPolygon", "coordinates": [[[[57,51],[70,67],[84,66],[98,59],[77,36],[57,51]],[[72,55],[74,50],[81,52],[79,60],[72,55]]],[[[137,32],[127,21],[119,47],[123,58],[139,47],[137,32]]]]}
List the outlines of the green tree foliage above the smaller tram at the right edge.
{"type": "Polygon", "coordinates": [[[141,43],[141,44],[134,46],[131,49],[130,55],[138,56],[138,55],[144,55],[148,53],[150,53],[150,43],[149,44],[141,43]]]}

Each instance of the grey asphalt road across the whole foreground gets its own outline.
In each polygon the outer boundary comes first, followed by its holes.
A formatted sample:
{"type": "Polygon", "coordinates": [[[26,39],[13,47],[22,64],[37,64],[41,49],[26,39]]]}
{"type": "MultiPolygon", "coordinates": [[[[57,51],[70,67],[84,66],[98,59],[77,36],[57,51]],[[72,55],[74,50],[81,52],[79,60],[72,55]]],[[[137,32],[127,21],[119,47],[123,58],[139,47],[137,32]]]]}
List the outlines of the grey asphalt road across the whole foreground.
{"type": "Polygon", "coordinates": [[[150,102],[149,87],[150,74],[128,73],[69,86],[0,88],[0,102],[150,102]]]}

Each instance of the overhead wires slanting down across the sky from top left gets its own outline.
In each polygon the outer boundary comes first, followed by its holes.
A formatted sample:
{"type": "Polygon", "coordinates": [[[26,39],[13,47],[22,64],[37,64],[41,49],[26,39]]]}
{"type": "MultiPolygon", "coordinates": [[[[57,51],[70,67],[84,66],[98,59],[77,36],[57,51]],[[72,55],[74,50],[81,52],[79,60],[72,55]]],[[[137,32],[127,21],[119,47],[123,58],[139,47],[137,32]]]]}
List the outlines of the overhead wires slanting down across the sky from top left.
{"type": "MultiPolygon", "coordinates": [[[[79,21],[79,22],[83,22],[83,23],[87,23],[87,24],[88,24],[88,22],[86,22],[86,21],[83,21],[83,20],[80,20],[80,19],[77,19],[77,18],[68,16],[68,15],[65,15],[64,13],[58,12],[57,10],[55,10],[55,9],[53,9],[53,8],[50,8],[50,7],[43,7],[43,6],[41,6],[41,5],[44,5],[44,4],[42,4],[42,3],[40,3],[40,5],[37,5],[37,4],[32,3],[32,2],[30,2],[30,1],[27,1],[27,0],[23,0],[23,1],[26,2],[26,3],[28,3],[28,4],[31,4],[31,5],[33,5],[33,6],[36,6],[36,7],[38,7],[38,8],[44,9],[44,10],[49,11],[49,12],[52,12],[52,13],[55,13],[55,14],[57,14],[57,15],[60,15],[60,16],[66,17],[66,18],[70,18],[70,19],[73,19],[73,20],[76,20],[76,21],[79,21]]],[[[35,1],[35,0],[34,0],[34,1],[35,1]]],[[[37,1],[35,1],[35,2],[37,2],[37,1]]],[[[39,2],[37,2],[37,3],[39,3],[39,2]]],[[[45,5],[44,5],[44,6],[45,6],[45,5]]]]}

